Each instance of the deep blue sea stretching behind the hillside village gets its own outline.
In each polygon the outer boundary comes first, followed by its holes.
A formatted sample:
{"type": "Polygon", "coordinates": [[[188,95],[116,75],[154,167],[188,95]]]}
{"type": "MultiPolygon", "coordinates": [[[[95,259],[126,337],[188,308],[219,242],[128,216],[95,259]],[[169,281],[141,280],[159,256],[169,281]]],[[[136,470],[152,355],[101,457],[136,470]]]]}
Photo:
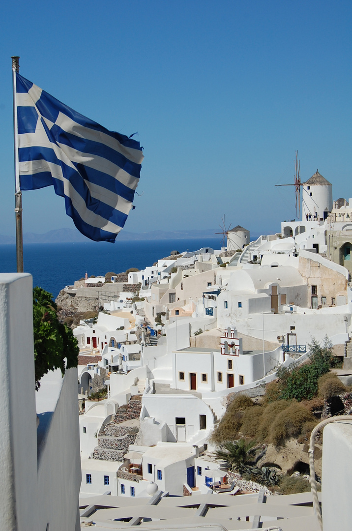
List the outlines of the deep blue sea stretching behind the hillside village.
{"type": "MultiPolygon", "coordinates": [[[[144,269],[171,251],[197,251],[201,247],[221,249],[219,238],[160,239],[107,242],[31,243],[23,245],[24,271],[31,273],[33,286],[40,286],[54,299],[66,285],[91,275],[121,273],[131,267],[144,269]]],[[[16,246],[0,245],[0,272],[16,271],[16,246]]]]}

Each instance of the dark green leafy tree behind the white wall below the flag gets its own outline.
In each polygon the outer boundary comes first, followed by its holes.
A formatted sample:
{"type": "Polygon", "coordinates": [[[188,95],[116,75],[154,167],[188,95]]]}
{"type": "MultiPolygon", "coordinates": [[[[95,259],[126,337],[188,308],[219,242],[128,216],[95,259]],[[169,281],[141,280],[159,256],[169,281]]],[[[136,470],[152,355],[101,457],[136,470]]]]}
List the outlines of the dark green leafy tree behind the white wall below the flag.
{"type": "Polygon", "coordinates": [[[40,387],[40,379],[48,371],[60,369],[62,375],[65,368],[78,365],[80,352],[76,338],[67,324],[57,319],[56,304],[51,293],[35,287],[33,289],[33,336],[36,389],[40,387]],[[66,358],[66,367],[65,367],[66,358]]]}

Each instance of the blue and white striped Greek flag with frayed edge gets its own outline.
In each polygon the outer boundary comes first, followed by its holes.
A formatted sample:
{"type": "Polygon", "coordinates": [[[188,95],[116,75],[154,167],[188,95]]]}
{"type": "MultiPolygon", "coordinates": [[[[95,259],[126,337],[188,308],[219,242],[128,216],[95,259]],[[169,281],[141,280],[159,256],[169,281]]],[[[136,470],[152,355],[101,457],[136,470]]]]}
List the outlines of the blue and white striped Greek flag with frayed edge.
{"type": "Polygon", "coordinates": [[[142,148],[16,73],[21,190],[54,186],[84,236],[115,242],[132,208],[142,148]]]}

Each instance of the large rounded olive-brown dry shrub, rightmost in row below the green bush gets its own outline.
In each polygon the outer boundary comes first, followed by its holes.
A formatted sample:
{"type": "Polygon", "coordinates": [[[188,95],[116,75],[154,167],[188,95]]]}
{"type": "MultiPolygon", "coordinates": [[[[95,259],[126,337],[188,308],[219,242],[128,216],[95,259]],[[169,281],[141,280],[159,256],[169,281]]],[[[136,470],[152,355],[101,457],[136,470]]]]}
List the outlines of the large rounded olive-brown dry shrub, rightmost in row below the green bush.
{"type": "Polygon", "coordinates": [[[301,433],[306,422],[314,422],[314,416],[304,406],[293,402],[278,414],[271,424],[268,440],[275,446],[285,444],[285,440],[301,433]]]}

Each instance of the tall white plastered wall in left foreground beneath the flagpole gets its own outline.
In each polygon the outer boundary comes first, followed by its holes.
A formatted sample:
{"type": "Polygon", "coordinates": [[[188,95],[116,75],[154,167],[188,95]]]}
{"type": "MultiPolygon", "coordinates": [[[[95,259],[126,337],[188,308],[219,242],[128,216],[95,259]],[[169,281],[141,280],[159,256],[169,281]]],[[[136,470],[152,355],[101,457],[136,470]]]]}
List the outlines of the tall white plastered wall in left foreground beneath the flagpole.
{"type": "Polygon", "coordinates": [[[1,273],[0,529],[78,531],[77,371],[36,393],[32,315],[31,275],[1,273]]]}

